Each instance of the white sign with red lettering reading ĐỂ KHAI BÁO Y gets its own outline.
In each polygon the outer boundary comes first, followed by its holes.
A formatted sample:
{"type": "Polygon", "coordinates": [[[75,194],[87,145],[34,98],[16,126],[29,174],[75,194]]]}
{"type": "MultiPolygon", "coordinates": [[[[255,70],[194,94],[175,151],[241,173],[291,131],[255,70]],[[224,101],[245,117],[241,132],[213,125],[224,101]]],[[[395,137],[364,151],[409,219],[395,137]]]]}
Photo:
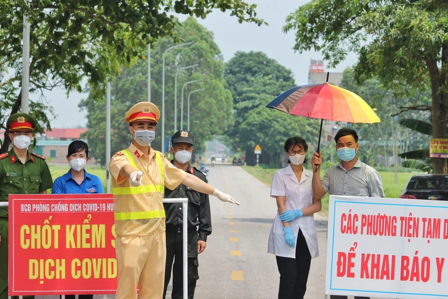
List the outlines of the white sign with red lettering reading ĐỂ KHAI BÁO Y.
{"type": "Polygon", "coordinates": [[[448,298],[448,201],[330,195],[325,292],[448,298]]]}

